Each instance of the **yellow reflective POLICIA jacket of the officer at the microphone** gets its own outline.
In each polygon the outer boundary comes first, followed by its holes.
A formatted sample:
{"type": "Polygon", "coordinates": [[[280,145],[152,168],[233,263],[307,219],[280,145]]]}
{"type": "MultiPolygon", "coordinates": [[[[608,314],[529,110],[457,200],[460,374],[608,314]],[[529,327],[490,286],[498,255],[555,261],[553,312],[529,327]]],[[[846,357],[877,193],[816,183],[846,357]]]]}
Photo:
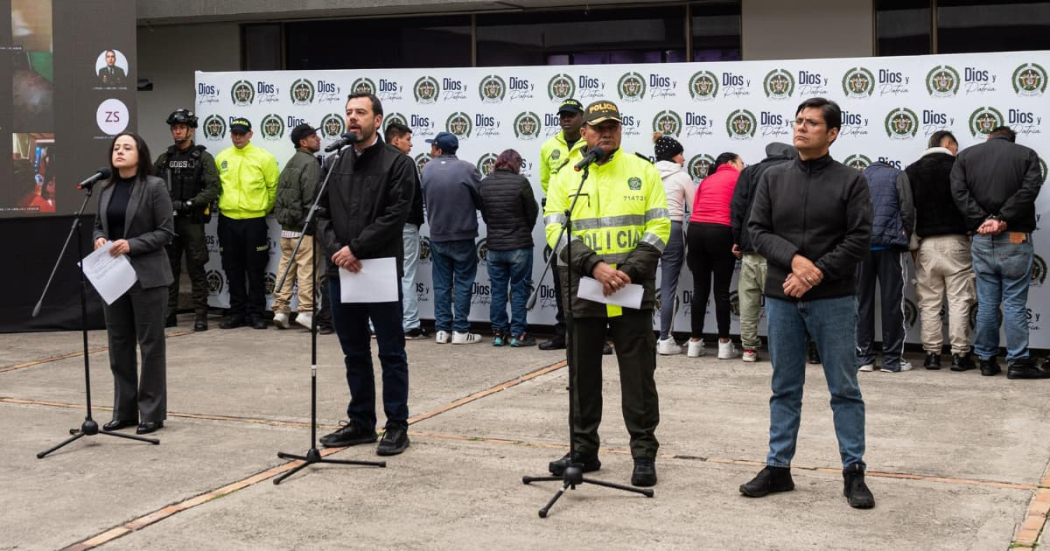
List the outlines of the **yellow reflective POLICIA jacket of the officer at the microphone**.
{"type": "Polygon", "coordinates": [[[645,288],[642,309],[651,310],[655,304],[656,264],[671,237],[664,182],[656,167],[622,150],[615,151],[606,164],[591,165],[589,170],[582,189],[583,171],[576,172],[571,167],[558,171],[547,193],[544,209],[547,243],[558,254],[563,292],[568,293],[567,278],[571,274],[573,315],[618,316],[620,306],[606,306],[574,296],[580,276],[592,277],[594,266],[604,260],[627,274],[632,283],[645,288]],[[578,190],[569,247],[569,239],[562,235],[562,225],[578,190]]]}

